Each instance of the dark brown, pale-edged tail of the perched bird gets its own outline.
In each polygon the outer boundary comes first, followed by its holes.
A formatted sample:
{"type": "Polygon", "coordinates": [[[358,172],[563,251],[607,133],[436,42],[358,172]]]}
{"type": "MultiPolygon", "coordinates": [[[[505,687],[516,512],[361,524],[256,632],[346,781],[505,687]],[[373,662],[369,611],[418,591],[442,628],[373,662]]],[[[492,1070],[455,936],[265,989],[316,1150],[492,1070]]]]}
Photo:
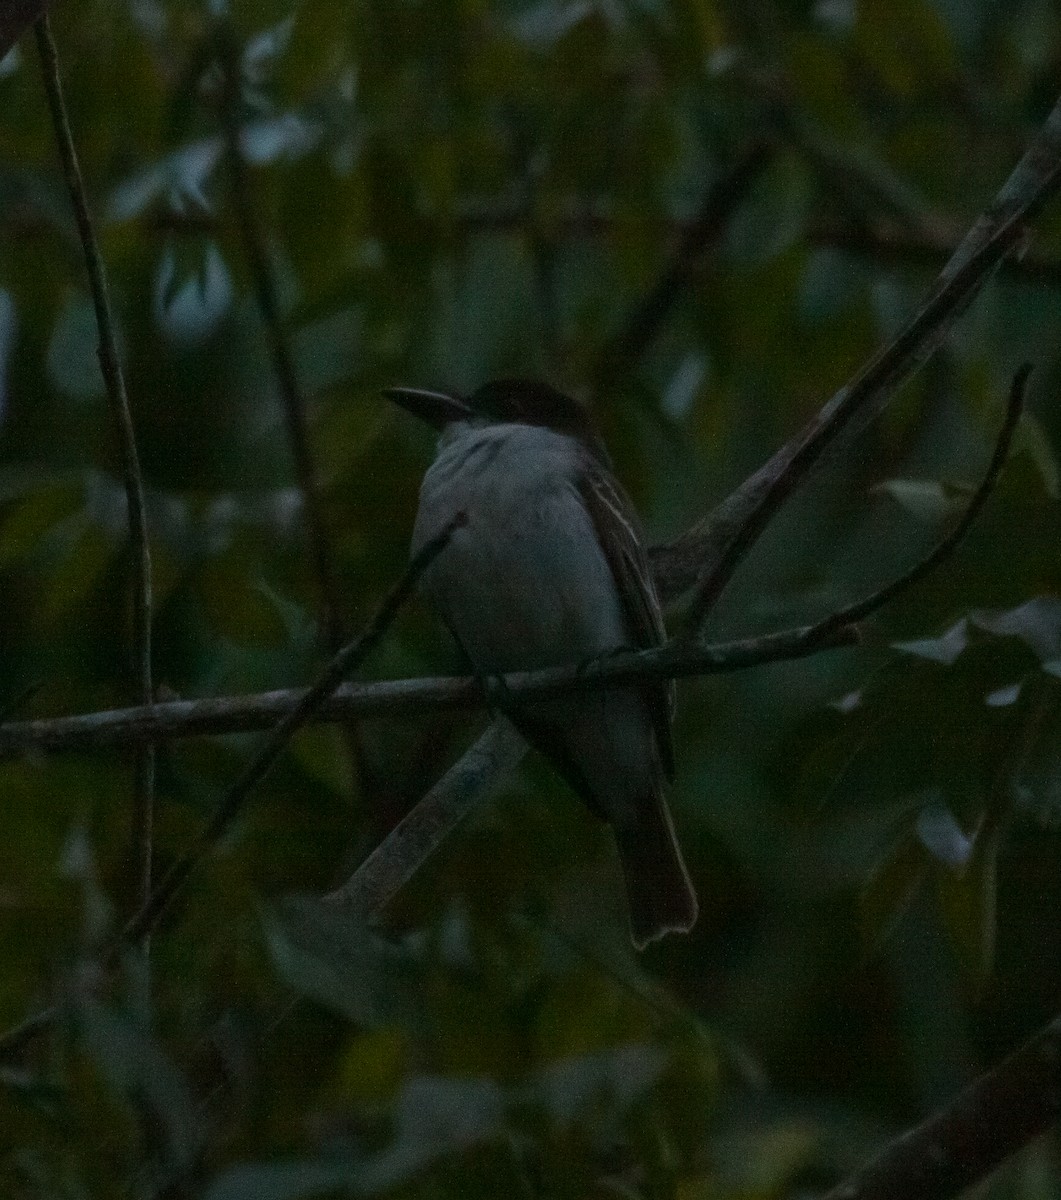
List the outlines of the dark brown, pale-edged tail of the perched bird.
{"type": "Polygon", "coordinates": [[[616,824],[616,842],[627,883],[630,937],[639,950],[664,934],[684,934],[696,924],[699,905],[666,800],[658,792],[616,824]]]}

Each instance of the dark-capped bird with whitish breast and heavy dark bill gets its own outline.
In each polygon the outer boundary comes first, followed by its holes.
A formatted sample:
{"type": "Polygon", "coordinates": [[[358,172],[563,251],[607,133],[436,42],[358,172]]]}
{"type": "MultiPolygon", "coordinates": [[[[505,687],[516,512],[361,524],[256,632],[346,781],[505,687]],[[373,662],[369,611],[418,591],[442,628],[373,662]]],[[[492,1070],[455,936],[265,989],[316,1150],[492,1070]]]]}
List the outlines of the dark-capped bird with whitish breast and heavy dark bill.
{"type": "MultiPolygon", "coordinates": [[[[439,433],[410,553],[450,529],[419,588],[480,677],[666,638],[636,511],[586,409],[534,379],[384,392],[439,433]]],[[[673,683],[505,704],[616,839],[630,937],[688,932],[697,900],[664,797],[673,683]]]]}

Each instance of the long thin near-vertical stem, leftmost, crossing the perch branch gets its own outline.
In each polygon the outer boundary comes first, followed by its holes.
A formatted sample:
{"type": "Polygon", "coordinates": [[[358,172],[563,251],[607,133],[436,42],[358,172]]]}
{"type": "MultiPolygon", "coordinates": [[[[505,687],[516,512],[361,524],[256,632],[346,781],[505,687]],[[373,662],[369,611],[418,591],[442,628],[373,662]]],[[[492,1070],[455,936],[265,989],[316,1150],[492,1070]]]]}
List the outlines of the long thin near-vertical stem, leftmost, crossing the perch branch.
{"type": "MultiPolygon", "coordinates": [[[[137,664],[137,682],[139,701],[150,708],[154,701],[151,684],[151,551],[148,541],[148,517],[144,508],[144,481],[140,474],[140,461],[137,454],[137,440],[133,430],[128,395],[125,389],[125,377],[118,354],[118,338],[114,331],[114,318],[110,312],[110,300],[107,289],[107,275],[100,244],[89,212],[85,185],[82,179],[70,118],[62,96],[62,83],[59,76],[59,54],[47,12],[35,25],[37,49],[41,56],[44,90],[48,95],[48,108],[52,124],[55,127],[55,140],[62,161],[62,173],[70,191],[71,204],[77,221],[85,268],[89,275],[89,289],[92,294],[92,306],[96,311],[96,326],[100,343],[97,355],[103,382],[107,386],[107,398],[112,416],[118,430],[118,442],[121,451],[121,473],[125,485],[126,506],[128,510],[128,532],[132,545],[133,562],[133,641],[137,664]]],[[[151,857],[155,823],[155,749],[143,745],[137,750],[136,803],[133,816],[133,856],[137,877],[137,901],[144,904],[151,894],[151,857]]],[[[144,942],[146,949],[146,940],[144,942]]]]}

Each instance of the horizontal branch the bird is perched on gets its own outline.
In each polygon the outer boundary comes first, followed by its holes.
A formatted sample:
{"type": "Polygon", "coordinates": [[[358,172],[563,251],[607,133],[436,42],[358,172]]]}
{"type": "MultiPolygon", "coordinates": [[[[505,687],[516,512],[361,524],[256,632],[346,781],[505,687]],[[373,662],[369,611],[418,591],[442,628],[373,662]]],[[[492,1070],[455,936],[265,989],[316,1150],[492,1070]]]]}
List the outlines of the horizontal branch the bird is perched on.
{"type": "MultiPolygon", "coordinates": [[[[721,674],[786,659],[805,658],[831,646],[850,646],[853,628],[829,631],[816,625],[708,646],[671,642],[651,650],[630,650],[592,664],[518,672],[504,677],[514,695],[556,696],[651,678],[721,674]]],[[[94,746],[134,746],[145,742],[217,733],[245,733],[269,728],[302,698],[302,689],[180,700],[151,708],[120,708],[78,716],[58,716],[0,725],[0,757],[25,750],[85,750],[94,746]]],[[[440,677],[348,683],[338,688],[314,713],[314,722],[336,722],[350,716],[385,716],[445,708],[479,708],[482,685],[474,678],[440,677]]]]}

